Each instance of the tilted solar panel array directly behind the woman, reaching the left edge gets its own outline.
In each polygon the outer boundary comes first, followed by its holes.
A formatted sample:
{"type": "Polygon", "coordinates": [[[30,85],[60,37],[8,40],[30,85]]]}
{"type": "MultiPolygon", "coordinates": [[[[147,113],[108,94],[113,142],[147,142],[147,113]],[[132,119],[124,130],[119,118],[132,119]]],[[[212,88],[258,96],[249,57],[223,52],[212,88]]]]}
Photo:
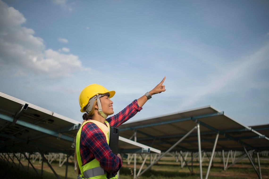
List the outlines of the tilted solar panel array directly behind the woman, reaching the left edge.
{"type": "MultiPolygon", "coordinates": [[[[0,92],[0,152],[56,152],[73,155],[76,120],[0,92]]],[[[119,150],[160,153],[160,150],[120,138],[119,150]]]]}

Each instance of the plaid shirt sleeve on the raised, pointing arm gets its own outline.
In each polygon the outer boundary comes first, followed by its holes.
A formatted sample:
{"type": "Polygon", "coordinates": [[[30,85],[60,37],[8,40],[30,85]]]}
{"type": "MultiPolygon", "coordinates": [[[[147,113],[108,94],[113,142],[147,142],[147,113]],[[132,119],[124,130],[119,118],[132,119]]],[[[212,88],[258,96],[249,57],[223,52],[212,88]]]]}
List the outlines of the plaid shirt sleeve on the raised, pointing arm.
{"type": "Polygon", "coordinates": [[[136,113],[141,111],[141,109],[142,107],[138,105],[137,100],[134,100],[131,104],[126,106],[126,108],[124,108],[118,114],[107,118],[106,121],[109,123],[110,126],[118,127],[122,123],[126,122],[134,115],[136,115],[136,113]]]}

